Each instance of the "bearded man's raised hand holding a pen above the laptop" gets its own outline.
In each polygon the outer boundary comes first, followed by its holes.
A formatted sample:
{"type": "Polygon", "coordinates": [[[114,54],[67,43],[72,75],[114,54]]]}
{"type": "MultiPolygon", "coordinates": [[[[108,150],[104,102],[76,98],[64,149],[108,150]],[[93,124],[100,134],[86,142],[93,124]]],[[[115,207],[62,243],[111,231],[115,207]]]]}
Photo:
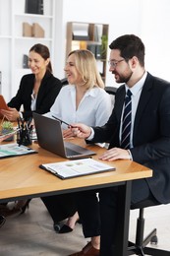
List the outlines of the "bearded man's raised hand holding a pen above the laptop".
{"type": "Polygon", "coordinates": [[[70,129],[72,130],[74,136],[82,139],[87,139],[91,134],[90,127],[82,123],[71,124],[70,129]]]}

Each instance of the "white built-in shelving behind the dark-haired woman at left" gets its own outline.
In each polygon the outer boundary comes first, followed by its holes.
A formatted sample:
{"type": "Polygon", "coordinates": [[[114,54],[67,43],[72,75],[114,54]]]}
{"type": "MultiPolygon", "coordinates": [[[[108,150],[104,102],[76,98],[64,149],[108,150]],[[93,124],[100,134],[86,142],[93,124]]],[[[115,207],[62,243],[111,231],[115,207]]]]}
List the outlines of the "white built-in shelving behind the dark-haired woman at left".
{"type": "Polygon", "coordinates": [[[45,44],[54,62],[55,0],[39,2],[43,3],[43,13],[31,13],[28,0],[0,0],[0,93],[4,96],[14,96],[22,76],[30,72],[25,62],[33,44],[45,44]]]}

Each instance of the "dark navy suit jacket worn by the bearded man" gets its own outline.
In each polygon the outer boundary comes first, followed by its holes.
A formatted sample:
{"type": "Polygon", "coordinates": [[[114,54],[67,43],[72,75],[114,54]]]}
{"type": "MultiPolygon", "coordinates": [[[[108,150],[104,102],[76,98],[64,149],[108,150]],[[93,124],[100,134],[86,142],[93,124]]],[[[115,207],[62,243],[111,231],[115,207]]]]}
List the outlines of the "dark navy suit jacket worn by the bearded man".
{"type": "MultiPolygon", "coordinates": [[[[94,128],[93,142],[110,142],[119,147],[119,129],[125,97],[125,86],[115,96],[108,122],[94,128]]],[[[131,149],[133,160],[153,170],[148,186],[159,203],[170,202],[170,83],[147,74],[142,88],[131,149]]]]}

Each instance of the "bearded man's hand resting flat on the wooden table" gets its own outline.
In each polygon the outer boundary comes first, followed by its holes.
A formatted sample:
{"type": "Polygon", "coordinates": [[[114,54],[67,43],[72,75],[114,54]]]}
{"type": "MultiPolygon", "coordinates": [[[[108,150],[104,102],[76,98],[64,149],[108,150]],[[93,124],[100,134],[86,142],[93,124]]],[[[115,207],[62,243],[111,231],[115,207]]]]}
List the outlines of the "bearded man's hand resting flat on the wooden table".
{"type": "Polygon", "coordinates": [[[127,150],[113,148],[101,155],[99,160],[130,160],[130,155],[127,150]]]}

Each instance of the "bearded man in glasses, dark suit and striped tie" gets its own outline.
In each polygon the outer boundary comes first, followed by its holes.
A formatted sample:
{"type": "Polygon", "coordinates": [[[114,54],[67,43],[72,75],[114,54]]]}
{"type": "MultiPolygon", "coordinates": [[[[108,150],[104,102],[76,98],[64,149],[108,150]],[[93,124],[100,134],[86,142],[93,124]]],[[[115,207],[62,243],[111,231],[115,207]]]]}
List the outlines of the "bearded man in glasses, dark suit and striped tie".
{"type": "MultiPolygon", "coordinates": [[[[109,150],[100,160],[135,160],[153,170],[151,178],[133,181],[132,208],[138,203],[145,207],[167,204],[170,202],[170,83],[145,71],[145,50],[138,36],[122,35],[113,40],[109,47],[109,70],[117,83],[124,83],[117,90],[113,112],[102,127],[73,124],[77,128],[72,129],[75,135],[92,143],[110,142],[109,150]],[[128,90],[131,92],[131,125],[130,141],[125,148],[121,143],[124,102],[128,90]]],[[[115,255],[117,188],[103,189],[99,196],[100,256],[115,255]]],[[[99,255],[96,254],[93,238],[88,248],[73,255],[99,255]]]]}

